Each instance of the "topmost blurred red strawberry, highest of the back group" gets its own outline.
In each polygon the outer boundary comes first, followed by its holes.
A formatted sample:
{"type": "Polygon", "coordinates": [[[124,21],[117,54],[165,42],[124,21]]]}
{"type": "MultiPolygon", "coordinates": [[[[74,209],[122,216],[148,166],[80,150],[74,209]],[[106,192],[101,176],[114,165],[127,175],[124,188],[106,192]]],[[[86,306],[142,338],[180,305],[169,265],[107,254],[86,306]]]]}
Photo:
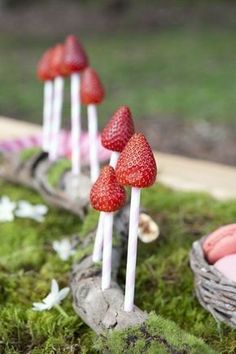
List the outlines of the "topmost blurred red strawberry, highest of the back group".
{"type": "Polygon", "coordinates": [[[88,66],[87,55],[73,35],[65,40],[64,64],[68,74],[82,71],[88,66]]]}

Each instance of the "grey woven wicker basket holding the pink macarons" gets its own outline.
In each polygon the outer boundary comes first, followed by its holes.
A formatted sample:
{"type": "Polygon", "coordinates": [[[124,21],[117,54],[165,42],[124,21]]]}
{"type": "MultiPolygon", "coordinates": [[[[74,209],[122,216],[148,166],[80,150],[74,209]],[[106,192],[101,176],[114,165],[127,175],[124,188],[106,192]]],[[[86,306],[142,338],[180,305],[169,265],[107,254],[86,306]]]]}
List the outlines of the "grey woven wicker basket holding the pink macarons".
{"type": "Polygon", "coordinates": [[[236,282],[225,278],[207,263],[202,249],[205,238],[194,242],[190,253],[197,298],[217,321],[236,328],[236,282]]]}

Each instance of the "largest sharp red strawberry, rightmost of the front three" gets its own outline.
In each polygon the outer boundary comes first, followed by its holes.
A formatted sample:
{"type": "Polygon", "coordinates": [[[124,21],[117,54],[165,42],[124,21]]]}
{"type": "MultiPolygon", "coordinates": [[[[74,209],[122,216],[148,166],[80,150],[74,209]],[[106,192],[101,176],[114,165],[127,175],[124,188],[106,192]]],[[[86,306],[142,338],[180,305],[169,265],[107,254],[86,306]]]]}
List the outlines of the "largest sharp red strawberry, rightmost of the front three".
{"type": "Polygon", "coordinates": [[[157,166],[150,145],[143,134],[134,134],[117,162],[117,181],[121,185],[144,188],[155,182],[156,175],[157,166]]]}

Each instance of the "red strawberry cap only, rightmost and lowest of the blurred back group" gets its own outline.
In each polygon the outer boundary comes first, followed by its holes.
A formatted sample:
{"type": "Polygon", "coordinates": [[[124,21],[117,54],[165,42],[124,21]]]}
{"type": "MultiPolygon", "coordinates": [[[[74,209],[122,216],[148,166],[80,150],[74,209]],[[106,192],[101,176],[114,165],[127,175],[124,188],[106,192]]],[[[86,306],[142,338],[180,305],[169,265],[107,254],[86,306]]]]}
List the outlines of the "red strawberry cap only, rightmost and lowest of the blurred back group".
{"type": "Polygon", "coordinates": [[[91,67],[86,68],[81,77],[81,102],[98,104],[104,98],[104,89],[98,74],[91,67]]]}

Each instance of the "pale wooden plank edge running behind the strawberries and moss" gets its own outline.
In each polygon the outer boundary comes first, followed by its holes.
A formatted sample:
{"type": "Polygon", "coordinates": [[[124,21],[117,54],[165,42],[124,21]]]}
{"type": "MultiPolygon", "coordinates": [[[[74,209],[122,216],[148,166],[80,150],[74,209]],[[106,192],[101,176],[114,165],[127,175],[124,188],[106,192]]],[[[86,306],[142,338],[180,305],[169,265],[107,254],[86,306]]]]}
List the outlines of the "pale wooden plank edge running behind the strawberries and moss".
{"type": "MultiPolygon", "coordinates": [[[[0,117],[0,139],[41,131],[35,124],[0,117]]],[[[236,168],[183,156],[155,153],[158,180],[176,190],[207,192],[222,200],[236,198],[236,168]]]]}

